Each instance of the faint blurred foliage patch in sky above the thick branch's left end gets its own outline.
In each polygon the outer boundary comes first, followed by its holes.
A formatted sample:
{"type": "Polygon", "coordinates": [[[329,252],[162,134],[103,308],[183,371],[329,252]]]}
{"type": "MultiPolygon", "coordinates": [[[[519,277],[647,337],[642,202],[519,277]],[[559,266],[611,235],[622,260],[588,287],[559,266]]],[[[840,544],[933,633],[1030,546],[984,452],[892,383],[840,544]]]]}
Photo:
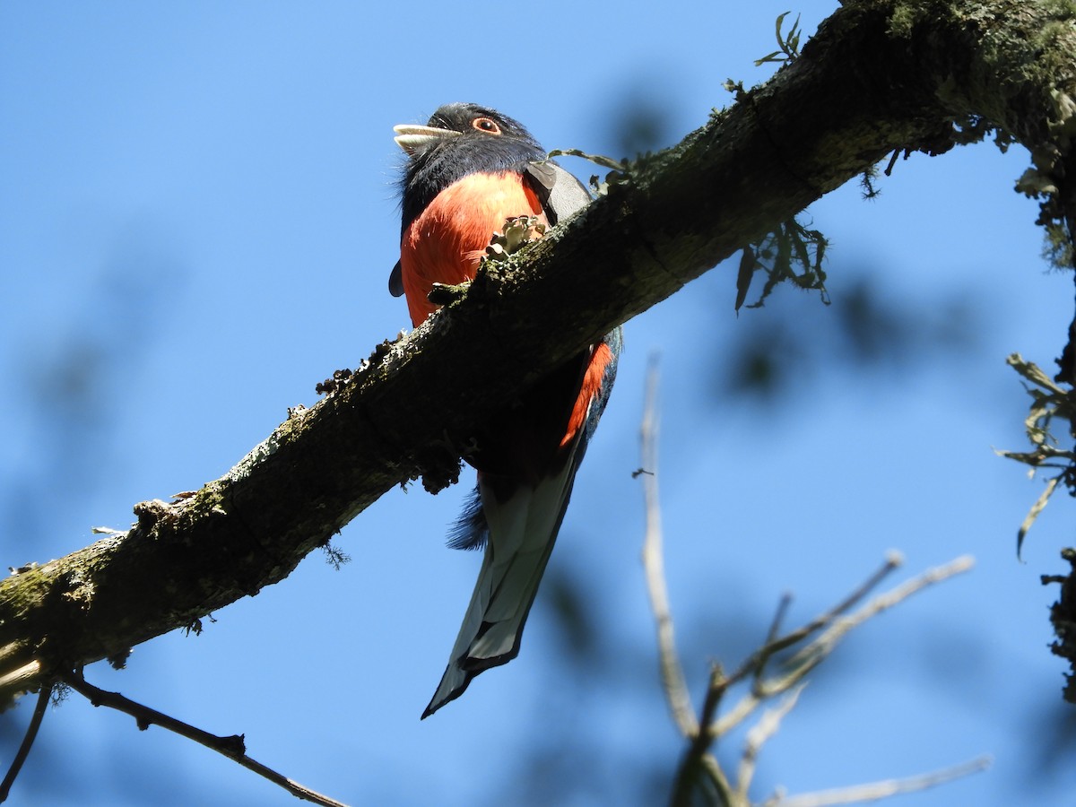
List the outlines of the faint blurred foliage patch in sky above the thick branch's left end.
{"type": "Polygon", "coordinates": [[[110,453],[117,391],[137,383],[164,307],[185,277],[172,246],[147,224],[131,224],[114,238],[97,266],[87,267],[89,283],[76,308],[61,309],[57,322],[39,323],[8,345],[19,357],[11,364],[22,367],[16,383],[33,451],[5,469],[0,529],[28,542],[55,532],[58,491],[69,500],[87,496],[102,463],[118,458],[110,453]]]}

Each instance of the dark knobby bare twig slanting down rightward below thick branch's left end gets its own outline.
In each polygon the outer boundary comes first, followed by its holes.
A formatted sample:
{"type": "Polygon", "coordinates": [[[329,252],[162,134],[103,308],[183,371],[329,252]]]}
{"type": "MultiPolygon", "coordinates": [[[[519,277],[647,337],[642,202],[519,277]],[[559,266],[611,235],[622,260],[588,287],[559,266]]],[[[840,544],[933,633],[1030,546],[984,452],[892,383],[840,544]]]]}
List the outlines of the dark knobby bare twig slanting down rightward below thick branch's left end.
{"type": "Polygon", "coordinates": [[[299,784],[297,781],[288,779],[286,776],[263,765],[260,762],[252,760],[246,755],[246,744],[244,741],[244,736],[241,734],[231,735],[230,737],[218,737],[215,734],[210,734],[201,728],[196,728],[195,726],[184,723],[181,720],[176,720],[168,714],[151,709],[148,706],[143,706],[142,704],[136,703],[130,698],[124,697],[118,692],[108,692],[94,686],[91,683],[88,683],[85,678],[83,678],[81,670],[71,672],[65,676],[61,680],[75,692],[84,695],[94,706],[107,706],[111,709],[116,709],[117,711],[130,714],[134,718],[138,723],[138,727],[141,731],[145,731],[154,724],[159,725],[161,728],[167,728],[170,732],[174,732],[175,734],[186,737],[187,739],[192,739],[199,745],[206,746],[206,748],[212,749],[217,753],[224,754],[229,760],[233,760],[247,770],[253,770],[258,776],[265,777],[298,798],[307,802],[313,802],[314,804],[320,804],[324,807],[346,807],[346,805],[342,802],[337,802],[334,798],[329,798],[328,796],[312,791],[309,788],[299,784]]]}

